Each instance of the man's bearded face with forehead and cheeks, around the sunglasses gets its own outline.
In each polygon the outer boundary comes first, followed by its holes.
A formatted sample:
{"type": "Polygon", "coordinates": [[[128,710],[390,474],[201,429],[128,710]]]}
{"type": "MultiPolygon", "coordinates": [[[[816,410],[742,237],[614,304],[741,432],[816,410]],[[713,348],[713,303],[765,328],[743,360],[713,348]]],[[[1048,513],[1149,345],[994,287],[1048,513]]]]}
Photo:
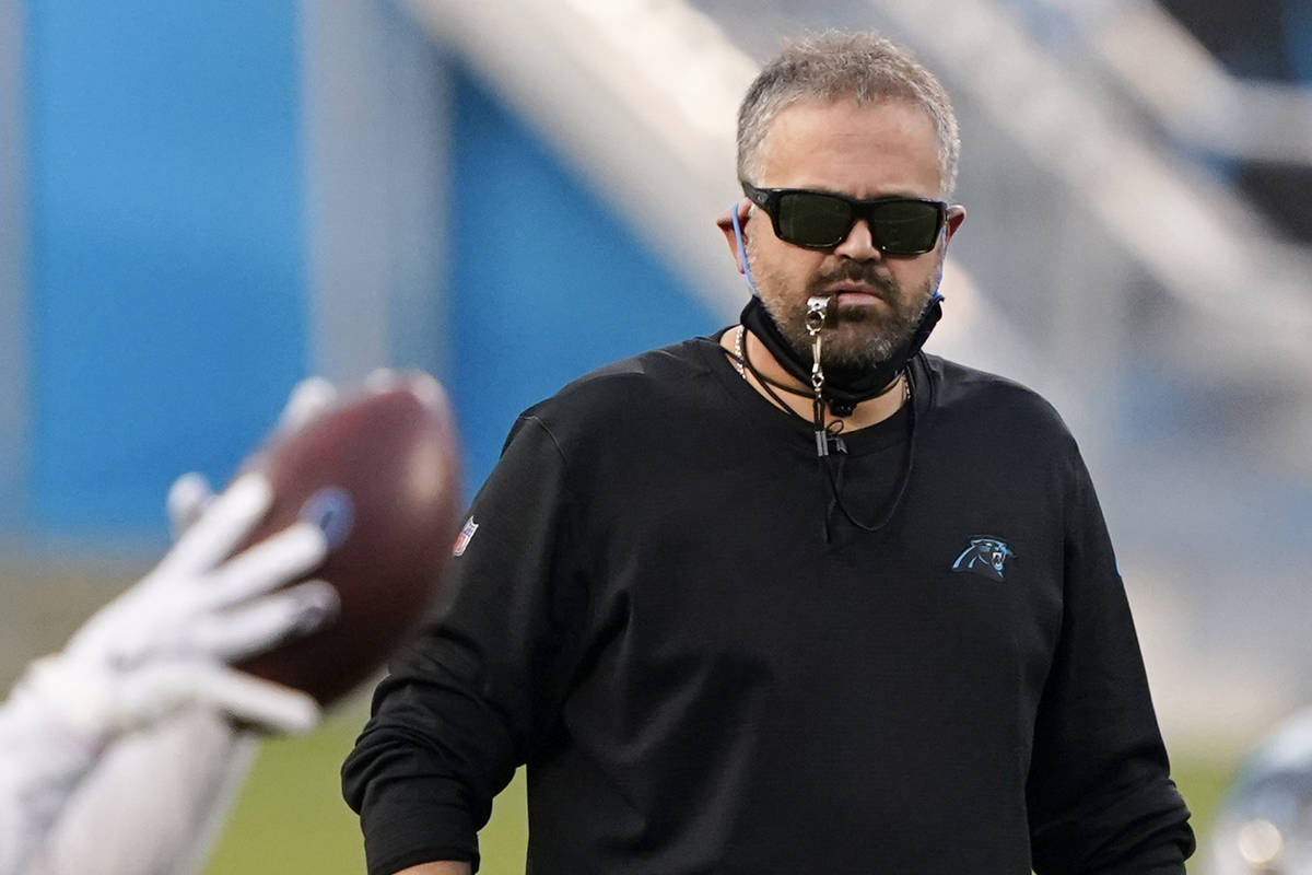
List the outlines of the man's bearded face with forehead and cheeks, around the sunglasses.
{"type": "MultiPolygon", "coordinates": [[[[748,181],[760,188],[853,198],[942,197],[934,125],[905,101],[799,101],[775,117],[758,157],[760,178],[748,181]]],[[[807,299],[832,295],[821,363],[865,370],[914,331],[938,287],[946,237],[964,218],[963,209],[951,207],[946,235],[933,251],[890,256],[875,248],[865,220],[833,249],[816,251],[779,240],[770,216],[752,207],[744,226],[748,264],[761,302],[799,352],[811,348],[807,299]]]]}

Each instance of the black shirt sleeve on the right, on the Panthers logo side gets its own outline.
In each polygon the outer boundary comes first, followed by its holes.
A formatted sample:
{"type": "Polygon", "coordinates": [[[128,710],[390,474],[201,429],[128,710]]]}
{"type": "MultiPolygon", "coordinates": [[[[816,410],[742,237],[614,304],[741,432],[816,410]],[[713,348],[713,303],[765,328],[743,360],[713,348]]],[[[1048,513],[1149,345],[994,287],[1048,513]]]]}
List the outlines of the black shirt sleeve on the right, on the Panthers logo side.
{"type": "Polygon", "coordinates": [[[1157,727],[1102,510],[1069,462],[1060,641],[1027,786],[1034,871],[1182,874],[1194,834],[1157,727]]]}

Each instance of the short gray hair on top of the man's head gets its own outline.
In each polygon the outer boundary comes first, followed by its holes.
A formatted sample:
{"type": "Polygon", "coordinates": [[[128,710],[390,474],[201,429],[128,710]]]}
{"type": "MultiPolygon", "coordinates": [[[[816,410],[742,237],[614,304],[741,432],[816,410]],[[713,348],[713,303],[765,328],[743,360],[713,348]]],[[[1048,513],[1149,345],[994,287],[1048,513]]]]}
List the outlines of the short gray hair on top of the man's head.
{"type": "Polygon", "coordinates": [[[870,31],[827,30],[803,37],[756,77],[739,108],[737,172],[748,181],[760,172],[760,148],[775,115],[799,100],[854,98],[872,104],[896,98],[929,113],[938,135],[943,195],[956,185],[962,140],[943,85],[895,42],[870,31]]]}

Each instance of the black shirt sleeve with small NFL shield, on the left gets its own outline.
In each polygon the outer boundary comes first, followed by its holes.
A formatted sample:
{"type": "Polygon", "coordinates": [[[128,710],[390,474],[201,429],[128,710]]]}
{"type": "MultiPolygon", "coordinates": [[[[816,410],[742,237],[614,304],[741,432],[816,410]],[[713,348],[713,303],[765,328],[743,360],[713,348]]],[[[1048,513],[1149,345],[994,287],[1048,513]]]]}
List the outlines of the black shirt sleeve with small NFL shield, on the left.
{"type": "Polygon", "coordinates": [[[586,609],[563,454],[523,416],[474,500],[434,619],[392,661],[342,766],[370,875],[478,866],[476,830],[556,720],[586,609]]]}

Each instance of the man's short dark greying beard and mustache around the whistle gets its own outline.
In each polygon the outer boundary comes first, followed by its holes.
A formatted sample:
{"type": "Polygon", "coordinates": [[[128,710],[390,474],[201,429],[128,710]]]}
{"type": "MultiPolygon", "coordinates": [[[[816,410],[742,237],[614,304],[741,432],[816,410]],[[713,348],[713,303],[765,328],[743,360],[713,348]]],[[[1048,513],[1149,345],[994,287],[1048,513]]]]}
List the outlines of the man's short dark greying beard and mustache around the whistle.
{"type": "MultiPolygon", "coordinates": [[[[750,256],[750,252],[748,253],[750,256]]],[[[752,258],[749,258],[752,261],[752,258]]],[[[836,270],[816,273],[802,294],[790,293],[785,283],[766,272],[756,272],[757,289],[766,312],[778,325],[798,356],[811,361],[811,335],[807,333],[807,299],[828,295],[828,286],[842,281],[869,286],[884,307],[838,306],[830,308],[821,335],[820,366],[840,382],[846,375],[859,375],[888,361],[905,345],[920,325],[942,278],[943,265],[918,289],[905,290],[871,264],[846,261],[836,270]]]]}

